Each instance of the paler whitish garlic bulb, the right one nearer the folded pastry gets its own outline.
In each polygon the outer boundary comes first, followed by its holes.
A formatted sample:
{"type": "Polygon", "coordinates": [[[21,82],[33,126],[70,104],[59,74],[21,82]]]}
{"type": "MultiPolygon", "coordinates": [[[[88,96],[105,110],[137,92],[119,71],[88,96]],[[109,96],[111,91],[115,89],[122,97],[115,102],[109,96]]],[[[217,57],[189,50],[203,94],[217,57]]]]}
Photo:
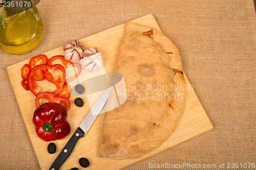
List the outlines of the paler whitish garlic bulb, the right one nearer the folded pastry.
{"type": "Polygon", "coordinates": [[[98,48],[88,47],[79,63],[85,70],[95,72],[103,66],[103,56],[98,48]]]}

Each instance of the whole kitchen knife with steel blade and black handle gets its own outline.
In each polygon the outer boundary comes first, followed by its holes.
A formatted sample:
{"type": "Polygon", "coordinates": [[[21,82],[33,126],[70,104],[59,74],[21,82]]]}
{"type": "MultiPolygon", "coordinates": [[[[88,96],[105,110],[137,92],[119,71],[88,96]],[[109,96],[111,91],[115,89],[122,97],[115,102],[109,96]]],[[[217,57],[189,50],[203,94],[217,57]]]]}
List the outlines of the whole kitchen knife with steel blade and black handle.
{"type": "Polygon", "coordinates": [[[99,114],[99,112],[102,110],[106,102],[108,101],[111,87],[108,87],[103,94],[100,96],[100,98],[97,100],[97,102],[93,105],[90,112],[87,114],[87,116],[83,119],[80,126],[76,129],[75,133],[72,135],[72,137],[69,139],[65,147],[60,151],[57,158],[52,163],[49,170],[57,170],[59,169],[60,165],[68,158],[70,153],[73,151],[75,144],[77,140],[81,137],[83,137],[91,125],[93,124],[95,118],[99,114]]]}

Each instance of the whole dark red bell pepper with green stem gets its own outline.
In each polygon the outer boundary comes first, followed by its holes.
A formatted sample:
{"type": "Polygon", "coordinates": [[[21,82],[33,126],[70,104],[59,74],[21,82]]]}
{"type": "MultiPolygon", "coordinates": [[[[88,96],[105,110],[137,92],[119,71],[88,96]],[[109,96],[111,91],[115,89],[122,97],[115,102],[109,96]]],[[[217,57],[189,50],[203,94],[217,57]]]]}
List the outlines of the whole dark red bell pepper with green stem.
{"type": "Polygon", "coordinates": [[[38,106],[32,122],[38,137],[45,141],[61,139],[70,133],[67,121],[67,109],[57,103],[45,103],[38,106]]]}

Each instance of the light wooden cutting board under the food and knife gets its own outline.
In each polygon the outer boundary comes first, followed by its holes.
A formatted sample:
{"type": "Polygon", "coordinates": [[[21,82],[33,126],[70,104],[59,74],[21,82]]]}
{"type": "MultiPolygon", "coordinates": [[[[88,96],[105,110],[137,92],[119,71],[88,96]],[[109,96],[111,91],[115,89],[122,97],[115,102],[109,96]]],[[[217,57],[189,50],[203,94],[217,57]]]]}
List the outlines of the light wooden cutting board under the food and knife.
{"type": "MultiPolygon", "coordinates": [[[[152,14],[134,19],[132,22],[139,23],[147,27],[152,27],[158,31],[161,31],[152,14]]],[[[80,41],[84,44],[84,46],[97,46],[104,56],[105,71],[114,72],[118,49],[124,32],[125,23],[83,38],[80,41]]],[[[63,55],[62,46],[44,54],[48,58],[51,58],[55,55],[63,55]]],[[[82,99],[84,100],[85,105],[81,108],[76,107],[74,105],[74,99],[76,97],[71,96],[71,109],[68,112],[68,121],[72,128],[71,133],[63,139],[54,141],[54,143],[57,145],[57,152],[52,155],[49,154],[47,152],[47,146],[50,142],[45,142],[36,135],[34,126],[31,121],[33,112],[35,110],[35,96],[30,91],[24,90],[20,85],[20,81],[22,81],[20,76],[20,68],[22,68],[22,66],[28,62],[29,59],[11,65],[7,67],[7,71],[41,169],[49,169],[50,165],[55,160],[59,152],[70,139],[77,127],[80,125],[83,118],[90,111],[90,106],[88,104],[87,97],[84,96],[82,99]]],[[[158,148],[138,159],[110,160],[99,158],[99,142],[104,117],[104,114],[100,114],[96,118],[90,130],[87,132],[86,136],[78,140],[73,152],[69,158],[61,165],[60,169],[70,169],[73,167],[83,169],[78,163],[78,160],[81,157],[86,157],[90,160],[90,166],[87,169],[120,169],[138,162],[144,158],[155,155],[161,151],[169,149],[178,143],[193,138],[208,130],[211,130],[213,127],[209,118],[207,117],[200,101],[197,98],[197,95],[195,94],[185,75],[184,77],[185,84],[188,88],[186,91],[187,99],[184,103],[183,113],[175,131],[158,148]]]]}

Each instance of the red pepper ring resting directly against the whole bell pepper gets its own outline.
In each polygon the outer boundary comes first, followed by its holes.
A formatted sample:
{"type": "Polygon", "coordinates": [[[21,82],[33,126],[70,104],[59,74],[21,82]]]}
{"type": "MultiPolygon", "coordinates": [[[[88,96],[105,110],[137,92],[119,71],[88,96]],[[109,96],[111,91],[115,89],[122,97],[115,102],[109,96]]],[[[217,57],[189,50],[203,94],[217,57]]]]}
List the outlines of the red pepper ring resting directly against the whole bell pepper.
{"type": "Polygon", "coordinates": [[[39,93],[35,98],[35,107],[40,106],[40,99],[47,99],[49,102],[58,103],[64,106],[67,111],[70,109],[70,101],[67,98],[59,97],[49,91],[39,93]]]}

